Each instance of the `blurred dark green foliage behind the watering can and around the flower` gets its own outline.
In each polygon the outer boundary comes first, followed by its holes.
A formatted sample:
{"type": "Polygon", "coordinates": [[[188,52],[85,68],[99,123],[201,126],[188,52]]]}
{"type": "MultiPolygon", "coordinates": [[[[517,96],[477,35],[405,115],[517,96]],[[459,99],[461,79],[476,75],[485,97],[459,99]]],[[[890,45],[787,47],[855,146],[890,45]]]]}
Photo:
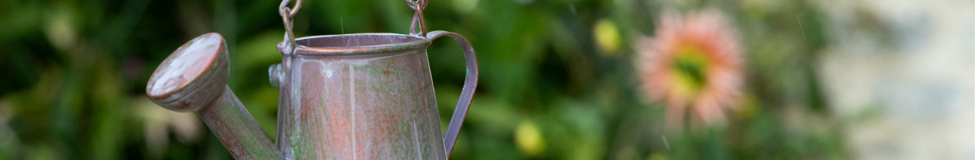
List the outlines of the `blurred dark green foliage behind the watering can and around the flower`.
{"type": "MultiPolygon", "coordinates": [[[[199,122],[198,140],[165,133],[167,145],[153,150],[152,119],[139,113],[158,107],[144,95],[155,66],[206,32],[226,38],[229,86],[273,139],[277,89],[267,67],[281,60],[278,4],[0,0],[0,159],[231,159],[199,122]]],[[[847,158],[812,70],[829,44],[821,10],[802,0],[431,0],[428,29],[468,38],[482,70],[451,158],[847,158]],[[639,90],[630,41],[653,36],[661,11],[705,8],[737,28],[751,103],[729,110],[724,127],[672,133],[663,104],[639,90]],[[609,41],[621,43],[617,53],[597,46],[600,20],[618,28],[618,37],[606,36],[619,38],[609,41]],[[516,130],[526,122],[540,131],[540,153],[519,148],[516,130]]],[[[408,33],[411,16],[403,0],[305,0],[294,28],[297,36],[408,33]]],[[[444,125],[464,81],[460,53],[449,40],[429,48],[444,125]]]]}

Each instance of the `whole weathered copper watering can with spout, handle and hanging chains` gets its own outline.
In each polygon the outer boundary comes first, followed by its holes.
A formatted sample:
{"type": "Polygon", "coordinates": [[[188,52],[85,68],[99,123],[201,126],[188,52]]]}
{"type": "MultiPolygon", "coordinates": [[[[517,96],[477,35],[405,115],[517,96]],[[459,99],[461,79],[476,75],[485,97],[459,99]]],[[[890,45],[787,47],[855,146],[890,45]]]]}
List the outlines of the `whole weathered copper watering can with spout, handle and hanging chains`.
{"type": "Polygon", "coordinates": [[[410,34],[359,33],[293,38],[293,9],[279,8],[287,33],[270,81],[280,88],[277,141],[272,142],[226,86],[229,60],[217,33],[179,47],[156,68],[146,94],[174,111],[194,111],[237,159],[447,159],[478,82],[478,62],[467,40],[426,32],[426,0],[415,10],[410,34]],[[416,31],[416,26],[419,31],[416,31]],[[463,49],[467,77],[441,135],[426,47],[441,36],[463,49]]]}

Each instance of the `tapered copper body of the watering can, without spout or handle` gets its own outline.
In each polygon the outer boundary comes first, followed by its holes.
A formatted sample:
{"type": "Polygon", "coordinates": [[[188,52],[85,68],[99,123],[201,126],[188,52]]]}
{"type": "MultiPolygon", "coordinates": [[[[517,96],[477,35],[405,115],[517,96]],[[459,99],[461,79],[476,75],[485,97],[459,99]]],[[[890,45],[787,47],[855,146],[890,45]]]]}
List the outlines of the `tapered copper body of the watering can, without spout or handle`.
{"type": "Polygon", "coordinates": [[[430,39],[365,33],[295,42],[308,48],[288,54],[279,45],[280,71],[270,71],[272,81],[280,76],[277,145],[286,157],[446,159],[430,39]]]}

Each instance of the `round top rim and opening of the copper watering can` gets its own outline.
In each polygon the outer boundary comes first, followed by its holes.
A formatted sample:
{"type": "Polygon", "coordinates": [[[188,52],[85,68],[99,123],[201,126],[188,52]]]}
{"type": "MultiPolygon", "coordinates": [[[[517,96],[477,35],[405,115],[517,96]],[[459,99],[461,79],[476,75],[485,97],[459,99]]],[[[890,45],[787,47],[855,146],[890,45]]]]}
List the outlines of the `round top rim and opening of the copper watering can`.
{"type": "MultiPolygon", "coordinates": [[[[314,56],[314,57],[349,57],[349,56],[380,56],[388,55],[391,53],[401,53],[414,50],[424,50],[428,45],[430,45],[431,38],[410,35],[410,34],[400,34],[400,33],[349,33],[349,34],[331,34],[331,35],[313,35],[305,36],[294,39],[298,42],[294,49],[294,55],[296,56],[314,56]],[[300,42],[320,39],[320,38],[333,38],[333,37],[357,37],[357,36],[384,36],[384,37],[397,37],[409,39],[407,42],[403,43],[390,43],[390,44],[380,44],[380,45],[366,45],[366,46],[350,46],[350,47],[309,47],[300,45],[300,42]]],[[[279,52],[283,53],[283,56],[292,56],[291,54],[285,52],[288,41],[283,41],[277,45],[279,52]]]]}

